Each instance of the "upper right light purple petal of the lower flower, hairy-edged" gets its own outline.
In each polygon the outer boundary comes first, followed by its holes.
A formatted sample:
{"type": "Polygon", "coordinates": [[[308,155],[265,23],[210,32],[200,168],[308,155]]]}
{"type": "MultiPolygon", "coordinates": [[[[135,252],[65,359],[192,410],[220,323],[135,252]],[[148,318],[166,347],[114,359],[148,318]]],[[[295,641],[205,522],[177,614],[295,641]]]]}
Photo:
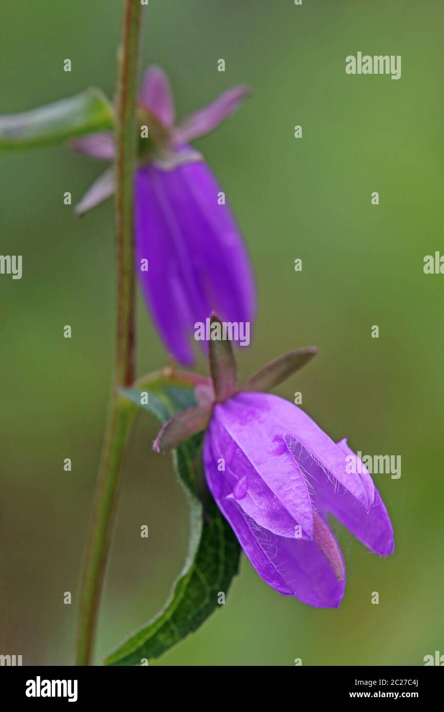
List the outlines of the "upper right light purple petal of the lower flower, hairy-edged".
{"type": "Polygon", "coordinates": [[[260,427],[267,440],[281,436],[287,445],[295,443],[297,447],[292,453],[302,472],[311,461],[316,461],[368,508],[368,496],[361,478],[357,473],[346,471],[345,454],[303,410],[268,393],[239,393],[227,401],[224,408],[224,412],[231,411],[233,437],[260,427]]]}

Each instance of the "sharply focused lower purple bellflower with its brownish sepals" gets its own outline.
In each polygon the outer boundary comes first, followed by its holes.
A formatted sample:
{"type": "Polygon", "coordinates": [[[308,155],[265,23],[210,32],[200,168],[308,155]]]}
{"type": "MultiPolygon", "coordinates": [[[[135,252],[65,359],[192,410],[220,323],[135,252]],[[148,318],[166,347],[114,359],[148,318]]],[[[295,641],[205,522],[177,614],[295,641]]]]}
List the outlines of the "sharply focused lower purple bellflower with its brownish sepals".
{"type": "Polygon", "coordinates": [[[386,507],[346,439],[335,444],[300,408],[264,392],[315,353],[286,355],[237,390],[229,342],[210,342],[212,394],[201,388],[200,405],[167,422],[154,449],[206,429],[207,485],[252,565],[282,595],[324,608],[339,607],[346,585],[328,514],[373,553],[394,547],[386,507]]]}

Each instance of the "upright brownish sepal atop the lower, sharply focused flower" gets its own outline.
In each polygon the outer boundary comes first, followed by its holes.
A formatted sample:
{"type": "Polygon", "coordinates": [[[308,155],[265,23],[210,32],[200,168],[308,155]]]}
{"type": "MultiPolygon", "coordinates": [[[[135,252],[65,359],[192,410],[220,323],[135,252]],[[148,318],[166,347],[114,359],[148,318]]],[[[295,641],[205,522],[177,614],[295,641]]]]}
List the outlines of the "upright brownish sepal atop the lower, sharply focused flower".
{"type": "Polygon", "coordinates": [[[215,314],[211,316],[210,336],[210,370],[216,400],[221,402],[237,390],[237,365],[232,344],[222,339],[222,322],[215,314]]]}

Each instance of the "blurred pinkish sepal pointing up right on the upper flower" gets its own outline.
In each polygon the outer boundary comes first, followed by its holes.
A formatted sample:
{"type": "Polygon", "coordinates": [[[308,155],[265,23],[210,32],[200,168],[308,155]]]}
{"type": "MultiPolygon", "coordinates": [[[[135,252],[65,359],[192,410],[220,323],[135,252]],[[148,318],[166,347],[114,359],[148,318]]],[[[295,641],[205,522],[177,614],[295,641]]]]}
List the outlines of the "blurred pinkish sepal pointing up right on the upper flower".
{"type": "Polygon", "coordinates": [[[175,141],[188,142],[210,133],[239,107],[248,94],[249,88],[244,86],[224,92],[212,104],[187,117],[175,129],[175,141]]]}

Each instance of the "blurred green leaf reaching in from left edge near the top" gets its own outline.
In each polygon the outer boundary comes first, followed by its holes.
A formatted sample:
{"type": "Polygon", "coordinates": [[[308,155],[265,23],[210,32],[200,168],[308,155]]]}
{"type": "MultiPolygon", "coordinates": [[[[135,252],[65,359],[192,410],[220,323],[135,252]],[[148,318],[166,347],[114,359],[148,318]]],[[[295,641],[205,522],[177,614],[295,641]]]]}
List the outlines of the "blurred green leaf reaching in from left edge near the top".
{"type": "Polygon", "coordinates": [[[0,116],[0,151],[46,146],[113,128],[113,107],[98,89],[22,114],[0,116]]]}

